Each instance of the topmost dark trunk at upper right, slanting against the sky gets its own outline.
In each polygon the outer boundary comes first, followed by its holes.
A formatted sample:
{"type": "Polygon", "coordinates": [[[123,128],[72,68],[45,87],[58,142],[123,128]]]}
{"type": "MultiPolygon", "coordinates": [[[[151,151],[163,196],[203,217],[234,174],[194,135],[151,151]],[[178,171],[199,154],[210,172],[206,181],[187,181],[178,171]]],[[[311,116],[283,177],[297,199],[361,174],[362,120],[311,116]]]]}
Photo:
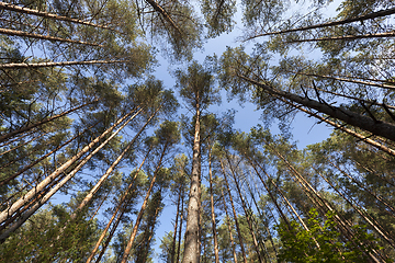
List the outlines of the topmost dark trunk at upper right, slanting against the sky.
{"type": "Polygon", "coordinates": [[[391,14],[394,14],[394,13],[395,13],[395,8],[392,8],[392,9],[381,10],[381,11],[377,11],[377,12],[372,12],[372,13],[369,13],[369,14],[364,14],[364,15],[360,15],[360,16],[351,18],[351,19],[345,19],[345,20],[332,21],[332,22],[327,22],[327,23],[321,23],[321,24],[302,26],[302,27],[292,28],[292,30],[284,30],[284,31],[276,31],[276,32],[269,32],[269,33],[264,33],[264,34],[259,34],[259,35],[255,35],[252,37],[247,38],[247,41],[252,39],[252,38],[257,38],[257,37],[260,37],[260,36],[267,36],[267,35],[280,35],[280,34],[297,32],[297,31],[306,31],[306,30],[314,30],[314,28],[323,28],[323,27],[327,27],[327,26],[349,24],[349,23],[352,23],[352,22],[382,18],[382,16],[391,15],[391,14]]]}

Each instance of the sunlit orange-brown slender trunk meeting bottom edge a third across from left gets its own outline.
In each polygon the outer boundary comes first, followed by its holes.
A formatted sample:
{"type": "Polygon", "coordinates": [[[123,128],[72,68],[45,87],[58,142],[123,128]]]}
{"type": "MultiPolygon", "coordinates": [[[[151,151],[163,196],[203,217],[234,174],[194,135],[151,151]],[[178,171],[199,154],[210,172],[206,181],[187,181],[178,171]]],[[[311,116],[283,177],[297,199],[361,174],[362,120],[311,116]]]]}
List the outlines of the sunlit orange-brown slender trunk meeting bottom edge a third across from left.
{"type": "Polygon", "coordinates": [[[157,165],[157,168],[156,168],[156,170],[155,170],[155,172],[154,172],[154,176],[153,176],[153,179],[151,179],[151,182],[150,182],[149,188],[148,188],[148,191],[147,191],[146,197],[144,198],[142,208],[140,208],[140,210],[139,210],[139,213],[138,213],[138,216],[137,216],[137,218],[136,218],[135,226],[134,226],[134,228],[133,228],[133,230],[132,230],[132,235],[131,235],[131,238],[129,238],[129,240],[128,240],[128,242],[127,242],[126,249],[125,249],[124,254],[123,254],[122,260],[121,260],[121,263],[125,263],[125,262],[127,261],[127,258],[128,258],[129,253],[131,253],[131,249],[132,249],[134,239],[136,238],[136,235],[137,235],[138,226],[139,226],[140,221],[142,221],[144,211],[145,211],[145,209],[146,209],[146,207],[147,207],[148,199],[149,199],[149,195],[150,195],[150,192],[151,192],[153,188],[154,188],[154,184],[155,184],[156,178],[157,178],[157,175],[158,175],[159,169],[161,168],[161,162],[162,162],[162,159],[163,159],[163,157],[165,157],[167,147],[168,147],[168,145],[166,144],[166,145],[163,146],[163,150],[162,150],[162,153],[161,153],[161,156],[160,156],[158,165],[157,165]]]}

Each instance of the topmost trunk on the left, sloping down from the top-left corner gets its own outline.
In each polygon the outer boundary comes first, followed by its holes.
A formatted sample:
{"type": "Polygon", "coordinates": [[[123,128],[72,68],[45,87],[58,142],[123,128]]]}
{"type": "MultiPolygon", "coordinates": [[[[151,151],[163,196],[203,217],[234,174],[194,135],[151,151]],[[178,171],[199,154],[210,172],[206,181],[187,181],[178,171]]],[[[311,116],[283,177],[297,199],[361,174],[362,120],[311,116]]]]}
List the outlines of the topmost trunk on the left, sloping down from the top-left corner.
{"type": "Polygon", "coordinates": [[[35,9],[23,8],[23,7],[19,7],[19,5],[15,5],[15,4],[12,4],[12,3],[7,3],[7,2],[0,2],[0,10],[1,9],[15,11],[15,12],[19,12],[19,13],[34,14],[34,15],[37,15],[37,16],[46,18],[46,19],[67,21],[67,22],[76,23],[76,24],[83,24],[83,25],[89,25],[89,26],[93,26],[93,27],[114,31],[113,28],[110,28],[109,26],[105,26],[105,25],[98,25],[98,24],[94,24],[94,23],[91,23],[91,22],[87,22],[87,21],[82,21],[82,20],[78,20],[78,19],[72,19],[72,18],[69,18],[69,16],[57,15],[57,14],[54,14],[54,13],[43,12],[43,11],[35,10],[35,9]]]}

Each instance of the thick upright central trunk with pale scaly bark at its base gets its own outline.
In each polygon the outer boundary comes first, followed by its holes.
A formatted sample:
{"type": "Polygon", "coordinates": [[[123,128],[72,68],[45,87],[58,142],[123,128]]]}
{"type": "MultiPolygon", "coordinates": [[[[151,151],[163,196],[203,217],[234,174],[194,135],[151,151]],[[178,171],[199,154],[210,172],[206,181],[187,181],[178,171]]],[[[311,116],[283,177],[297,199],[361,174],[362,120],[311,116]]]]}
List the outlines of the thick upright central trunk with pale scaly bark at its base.
{"type": "Polygon", "coordinates": [[[188,205],[188,218],[185,230],[185,245],[182,263],[200,262],[200,208],[201,208],[201,135],[200,135],[200,104],[196,103],[195,127],[193,140],[193,159],[192,159],[192,176],[191,190],[188,205]]]}

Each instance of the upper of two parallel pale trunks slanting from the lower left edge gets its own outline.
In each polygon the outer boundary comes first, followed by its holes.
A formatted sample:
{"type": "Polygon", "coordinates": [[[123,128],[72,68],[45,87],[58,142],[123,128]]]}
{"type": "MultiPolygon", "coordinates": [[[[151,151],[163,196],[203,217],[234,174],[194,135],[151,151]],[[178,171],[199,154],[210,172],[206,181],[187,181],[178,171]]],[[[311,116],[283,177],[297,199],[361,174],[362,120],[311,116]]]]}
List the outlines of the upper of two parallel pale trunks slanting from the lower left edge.
{"type": "MultiPolygon", "coordinates": [[[[127,122],[132,121],[137,114],[139,114],[143,110],[138,110],[137,113],[135,113],[135,115],[133,115],[127,122]]],[[[117,125],[120,125],[122,122],[124,122],[127,117],[129,117],[133,114],[133,111],[129,112],[128,114],[126,114],[125,116],[123,116],[122,118],[120,118],[117,122],[115,122],[114,125],[112,125],[110,128],[108,128],[104,133],[102,133],[100,136],[98,136],[95,139],[93,139],[88,146],[86,146],[82,150],[80,150],[76,156],[71,157],[67,162],[65,162],[61,167],[59,167],[58,169],[56,169],[50,175],[48,175],[46,179],[44,179],[41,183],[38,183],[34,188],[32,188],[31,191],[29,191],[24,196],[22,196],[20,199],[18,199],[15,203],[13,203],[9,208],[7,208],[5,210],[0,213],[0,224],[2,221],[4,221],[10,215],[12,215],[13,213],[15,213],[21,206],[23,206],[29,199],[31,199],[37,192],[42,191],[46,185],[48,185],[54,179],[56,179],[59,174],[61,174],[63,172],[66,171],[66,169],[68,169],[71,164],[74,164],[78,159],[80,159],[84,153],[87,153],[97,142],[100,141],[100,139],[102,139],[104,136],[106,136],[109,133],[111,133],[117,125]]],[[[119,129],[120,132],[121,129],[119,129]]],[[[116,134],[114,134],[115,136],[116,134]]],[[[113,137],[113,136],[112,136],[113,137]]],[[[111,137],[111,138],[112,138],[111,137]]],[[[109,140],[105,140],[109,141],[109,140]]],[[[104,144],[104,142],[103,142],[104,144]]],[[[102,146],[100,148],[102,148],[104,145],[102,144],[102,146]]],[[[97,150],[99,150],[99,147],[97,148],[97,150]]],[[[97,151],[95,150],[95,151],[97,151]]],[[[92,156],[92,155],[90,155],[92,156]]],[[[87,160],[88,161],[88,160],[87,160]]],[[[86,162],[87,162],[86,161],[86,162]]],[[[83,161],[82,161],[83,162],[83,161]]],[[[86,163],[83,162],[83,164],[86,163]]],[[[82,164],[82,163],[81,163],[82,164]]],[[[82,164],[82,165],[83,165],[82,164]]],[[[78,165],[78,170],[82,167],[82,165],[78,165]]],[[[75,169],[75,172],[71,172],[68,174],[68,179],[70,179],[77,171],[77,169],[75,169]]],[[[67,180],[68,180],[67,179],[67,180]]],[[[64,179],[66,180],[66,178],[64,179]]],[[[64,182],[66,183],[66,182],[64,182]]],[[[54,191],[56,192],[57,188],[54,191]]],[[[49,195],[48,195],[49,197],[49,195]]],[[[38,207],[42,205],[43,203],[40,202],[37,203],[37,207],[36,209],[38,209],[38,207]]],[[[32,210],[32,213],[34,213],[32,210]]],[[[24,219],[26,220],[27,217],[24,219]]],[[[24,221],[23,220],[23,221],[24,221]]],[[[21,221],[21,224],[23,222],[21,221]]],[[[19,225],[20,226],[20,225],[19,225]]]]}

